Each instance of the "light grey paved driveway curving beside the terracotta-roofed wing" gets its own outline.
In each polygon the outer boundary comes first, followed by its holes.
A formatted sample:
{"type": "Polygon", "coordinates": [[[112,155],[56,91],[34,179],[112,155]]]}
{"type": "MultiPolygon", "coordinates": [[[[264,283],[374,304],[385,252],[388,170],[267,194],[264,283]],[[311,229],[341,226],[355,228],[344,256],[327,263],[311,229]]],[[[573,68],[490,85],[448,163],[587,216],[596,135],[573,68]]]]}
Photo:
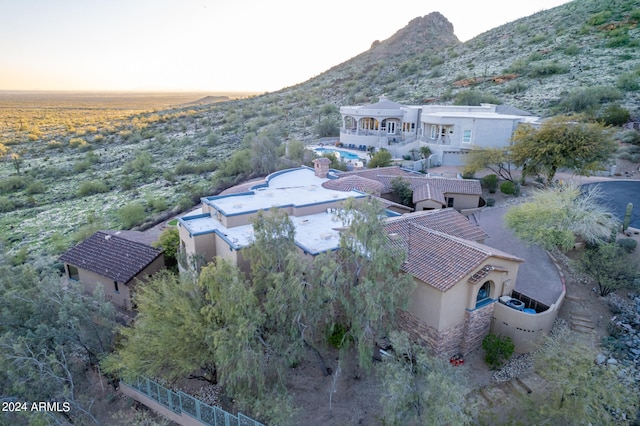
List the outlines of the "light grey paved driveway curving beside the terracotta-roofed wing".
{"type": "Polygon", "coordinates": [[[516,291],[550,306],[562,293],[560,274],[545,250],[527,245],[505,228],[503,216],[507,208],[500,205],[476,214],[478,224],[489,235],[484,243],[524,259],[518,270],[516,291]]]}

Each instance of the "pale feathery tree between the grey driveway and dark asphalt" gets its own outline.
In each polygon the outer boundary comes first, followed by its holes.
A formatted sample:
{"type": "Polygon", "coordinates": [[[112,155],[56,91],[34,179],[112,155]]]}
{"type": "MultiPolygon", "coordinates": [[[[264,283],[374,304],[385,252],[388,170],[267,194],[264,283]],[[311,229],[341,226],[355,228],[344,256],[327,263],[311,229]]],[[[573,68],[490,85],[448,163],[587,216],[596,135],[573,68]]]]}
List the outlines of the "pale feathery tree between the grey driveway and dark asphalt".
{"type": "Polygon", "coordinates": [[[598,186],[581,191],[572,183],[558,184],[536,191],[531,201],[511,207],[504,219],[518,238],[547,250],[569,250],[576,237],[597,244],[607,241],[617,225],[601,197],[598,186]]]}

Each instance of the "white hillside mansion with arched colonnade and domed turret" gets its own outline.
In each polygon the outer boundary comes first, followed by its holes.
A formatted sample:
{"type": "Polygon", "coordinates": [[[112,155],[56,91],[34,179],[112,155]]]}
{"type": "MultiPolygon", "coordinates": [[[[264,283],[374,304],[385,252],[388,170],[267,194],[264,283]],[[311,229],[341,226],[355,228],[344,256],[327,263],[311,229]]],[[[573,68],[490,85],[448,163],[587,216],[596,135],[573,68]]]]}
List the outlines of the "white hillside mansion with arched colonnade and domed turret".
{"type": "Polygon", "coordinates": [[[340,142],[352,149],[387,149],[400,157],[428,146],[429,166],[464,164],[477,147],[506,147],[521,123],[539,118],[507,105],[403,105],[379,102],[340,107],[340,142]]]}

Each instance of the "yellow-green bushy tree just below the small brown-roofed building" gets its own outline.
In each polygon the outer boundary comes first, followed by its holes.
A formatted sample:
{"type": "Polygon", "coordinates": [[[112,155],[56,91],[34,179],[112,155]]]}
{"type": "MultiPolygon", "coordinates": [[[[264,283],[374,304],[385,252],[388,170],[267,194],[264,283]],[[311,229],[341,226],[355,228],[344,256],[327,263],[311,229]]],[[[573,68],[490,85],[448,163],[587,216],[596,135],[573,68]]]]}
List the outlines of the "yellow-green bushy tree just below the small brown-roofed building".
{"type": "Polygon", "coordinates": [[[216,360],[207,340],[209,322],[203,314],[206,301],[197,282],[180,280],[169,271],[155,274],[137,287],[136,321],[120,330],[120,345],[103,363],[105,370],[169,381],[198,372],[200,378],[216,383],[216,360]]]}

